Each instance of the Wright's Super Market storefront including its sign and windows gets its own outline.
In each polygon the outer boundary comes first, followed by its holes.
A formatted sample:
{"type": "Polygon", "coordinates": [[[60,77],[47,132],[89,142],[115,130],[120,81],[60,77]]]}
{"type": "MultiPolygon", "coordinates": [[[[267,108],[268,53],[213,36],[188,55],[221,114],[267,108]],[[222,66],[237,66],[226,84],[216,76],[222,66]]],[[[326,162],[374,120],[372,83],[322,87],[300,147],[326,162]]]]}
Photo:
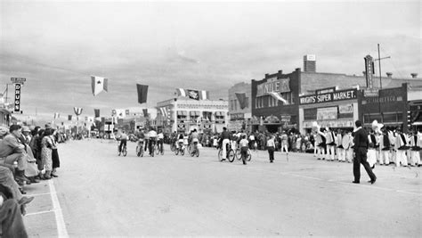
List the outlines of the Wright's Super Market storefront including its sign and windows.
{"type": "MultiPolygon", "coordinates": [[[[319,92],[319,91],[317,91],[319,92]]],[[[301,133],[310,132],[312,122],[321,127],[352,130],[359,119],[359,95],[352,88],[329,93],[319,92],[301,96],[299,99],[299,128],[301,133]]]]}

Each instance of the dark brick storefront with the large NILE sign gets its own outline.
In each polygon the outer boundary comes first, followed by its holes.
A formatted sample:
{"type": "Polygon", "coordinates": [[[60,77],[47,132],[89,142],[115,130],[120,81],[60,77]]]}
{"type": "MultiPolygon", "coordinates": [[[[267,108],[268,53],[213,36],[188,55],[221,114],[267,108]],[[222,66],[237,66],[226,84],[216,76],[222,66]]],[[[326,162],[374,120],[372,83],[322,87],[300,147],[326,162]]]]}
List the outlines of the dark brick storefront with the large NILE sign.
{"type": "Polygon", "coordinates": [[[253,131],[275,133],[297,128],[300,73],[300,69],[289,74],[280,70],[266,74],[262,80],[252,80],[253,131]]]}

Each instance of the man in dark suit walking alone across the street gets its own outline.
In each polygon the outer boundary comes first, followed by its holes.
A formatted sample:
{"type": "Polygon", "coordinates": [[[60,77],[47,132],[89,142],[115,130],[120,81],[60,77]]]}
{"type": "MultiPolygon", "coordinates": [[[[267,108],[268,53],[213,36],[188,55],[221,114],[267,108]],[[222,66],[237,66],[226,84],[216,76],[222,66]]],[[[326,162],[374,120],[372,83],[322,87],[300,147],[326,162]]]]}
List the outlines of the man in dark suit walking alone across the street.
{"type": "Polygon", "coordinates": [[[356,130],[354,131],[353,184],[360,183],[362,164],[363,168],[365,168],[370,177],[368,182],[373,185],[377,180],[377,176],[374,175],[367,161],[367,152],[369,146],[368,133],[361,127],[362,124],[360,120],[356,120],[354,125],[356,126],[356,130]]]}

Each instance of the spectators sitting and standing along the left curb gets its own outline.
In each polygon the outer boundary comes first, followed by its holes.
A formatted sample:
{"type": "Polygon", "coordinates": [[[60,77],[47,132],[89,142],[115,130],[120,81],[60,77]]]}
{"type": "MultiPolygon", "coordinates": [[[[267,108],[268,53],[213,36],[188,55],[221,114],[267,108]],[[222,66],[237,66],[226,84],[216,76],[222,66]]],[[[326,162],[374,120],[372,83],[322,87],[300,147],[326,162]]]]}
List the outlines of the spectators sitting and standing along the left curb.
{"type": "Polygon", "coordinates": [[[24,187],[58,176],[58,144],[66,139],[50,124],[0,127],[0,236],[28,236],[22,216],[34,197],[23,196],[24,187]]]}

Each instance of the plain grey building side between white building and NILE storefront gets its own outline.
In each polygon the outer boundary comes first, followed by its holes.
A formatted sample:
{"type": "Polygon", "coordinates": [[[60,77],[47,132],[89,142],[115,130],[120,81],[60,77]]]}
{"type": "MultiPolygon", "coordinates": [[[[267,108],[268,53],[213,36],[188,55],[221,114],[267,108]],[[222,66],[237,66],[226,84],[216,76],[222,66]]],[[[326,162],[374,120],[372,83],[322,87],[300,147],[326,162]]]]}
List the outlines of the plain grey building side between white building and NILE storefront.
{"type": "Polygon", "coordinates": [[[239,83],[229,88],[229,123],[230,131],[252,129],[252,93],[251,85],[239,83]]]}

